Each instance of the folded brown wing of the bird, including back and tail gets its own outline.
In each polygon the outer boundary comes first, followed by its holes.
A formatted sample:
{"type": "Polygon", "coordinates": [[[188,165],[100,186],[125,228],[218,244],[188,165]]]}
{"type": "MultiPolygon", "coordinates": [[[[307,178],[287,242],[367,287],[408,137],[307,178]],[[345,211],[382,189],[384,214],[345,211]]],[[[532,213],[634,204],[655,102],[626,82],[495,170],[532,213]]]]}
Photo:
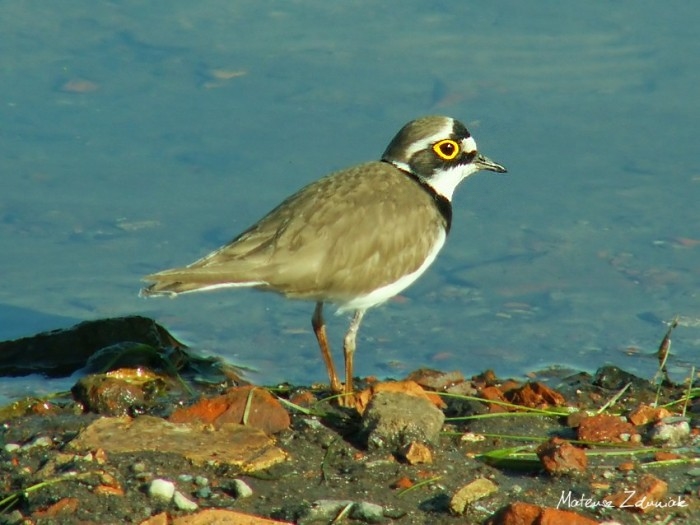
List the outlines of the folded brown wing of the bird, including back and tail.
{"type": "Polygon", "coordinates": [[[186,268],[148,276],[146,293],[225,283],[342,301],[416,270],[444,228],[431,196],[383,162],[320,179],[230,244],[186,268]]]}

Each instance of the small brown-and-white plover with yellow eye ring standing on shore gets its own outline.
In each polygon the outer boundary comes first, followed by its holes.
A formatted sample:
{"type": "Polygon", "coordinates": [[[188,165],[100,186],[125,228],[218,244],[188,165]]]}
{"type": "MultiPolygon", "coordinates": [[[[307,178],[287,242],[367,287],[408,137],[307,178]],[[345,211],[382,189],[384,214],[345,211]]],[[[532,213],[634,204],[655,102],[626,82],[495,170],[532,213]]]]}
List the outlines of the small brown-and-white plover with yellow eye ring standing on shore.
{"type": "MultiPolygon", "coordinates": [[[[331,173],[282,201],[221,248],[144,277],[142,296],[250,287],[315,302],[311,318],[330,390],[353,394],[365,312],[402,292],[433,263],[452,225],[452,196],[468,176],[504,166],[482,155],[446,116],[412,120],[380,160],[331,173]],[[354,312],[343,339],[345,381],[330,351],[324,304],[354,312]]],[[[341,403],[342,404],[342,403],[341,403]]]]}

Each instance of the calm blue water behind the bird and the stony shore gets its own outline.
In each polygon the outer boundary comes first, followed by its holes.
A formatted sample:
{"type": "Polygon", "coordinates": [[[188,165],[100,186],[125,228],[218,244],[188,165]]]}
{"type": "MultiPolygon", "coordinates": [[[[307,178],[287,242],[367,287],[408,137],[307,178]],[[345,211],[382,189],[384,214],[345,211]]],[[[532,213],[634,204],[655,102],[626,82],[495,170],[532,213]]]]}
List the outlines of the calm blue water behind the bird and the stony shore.
{"type": "MultiPolygon", "coordinates": [[[[3,11],[0,339],[143,314],[256,381],[324,381],[312,304],[249,290],[144,300],[139,280],[442,113],[510,174],[460,186],[431,270],[365,318],[358,375],[614,363],[651,377],[674,315],[675,379],[700,362],[700,6],[3,11]]],[[[339,347],[348,320],[328,321],[339,347]]],[[[11,384],[10,397],[39,388],[11,384]]]]}

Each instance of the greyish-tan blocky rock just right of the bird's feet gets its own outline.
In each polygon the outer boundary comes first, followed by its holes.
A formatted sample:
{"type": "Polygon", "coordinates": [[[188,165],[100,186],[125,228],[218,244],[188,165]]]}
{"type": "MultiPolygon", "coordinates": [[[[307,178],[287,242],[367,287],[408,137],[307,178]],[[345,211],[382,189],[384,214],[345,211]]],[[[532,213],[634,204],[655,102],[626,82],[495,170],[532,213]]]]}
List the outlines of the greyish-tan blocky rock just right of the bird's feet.
{"type": "Polygon", "coordinates": [[[425,398],[396,392],[375,395],[363,414],[361,433],[369,448],[400,453],[411,442],[435,442],[445,415],[425,398]]]}

